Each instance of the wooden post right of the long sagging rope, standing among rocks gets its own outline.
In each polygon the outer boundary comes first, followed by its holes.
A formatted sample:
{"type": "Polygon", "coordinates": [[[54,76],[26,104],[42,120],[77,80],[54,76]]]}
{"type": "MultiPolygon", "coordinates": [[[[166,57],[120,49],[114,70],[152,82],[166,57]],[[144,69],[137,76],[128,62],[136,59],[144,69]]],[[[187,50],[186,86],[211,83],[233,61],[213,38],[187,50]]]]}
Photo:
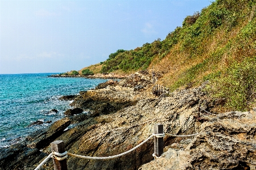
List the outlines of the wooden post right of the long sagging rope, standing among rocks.
{"type": "MultiPolygon", "coordinates": [[[[163,134],[163,124],[156,124],[154,128],[154,134],[163,134]]],[[[155,156],[161,156],[163,154],[164,141],[163,138],[154,139],[154,154],[155,156]]]]}

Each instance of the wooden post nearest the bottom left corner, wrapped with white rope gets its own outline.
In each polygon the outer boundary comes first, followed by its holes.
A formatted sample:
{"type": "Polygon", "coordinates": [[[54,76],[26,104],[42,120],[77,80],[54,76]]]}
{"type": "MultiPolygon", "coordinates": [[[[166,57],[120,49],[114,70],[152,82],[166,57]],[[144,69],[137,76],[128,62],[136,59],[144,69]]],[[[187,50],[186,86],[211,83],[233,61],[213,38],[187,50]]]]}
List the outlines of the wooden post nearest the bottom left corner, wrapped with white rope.
{"type": "MultiPolygon", "coordinates": [[[[51,150],[63,154],[65,152],[65,144],[62,140],[55,140],[51,143],[51,150]]],[[[67,160],[56,160],[53,159],[54,170],[68,170],[67,160]]]]}

